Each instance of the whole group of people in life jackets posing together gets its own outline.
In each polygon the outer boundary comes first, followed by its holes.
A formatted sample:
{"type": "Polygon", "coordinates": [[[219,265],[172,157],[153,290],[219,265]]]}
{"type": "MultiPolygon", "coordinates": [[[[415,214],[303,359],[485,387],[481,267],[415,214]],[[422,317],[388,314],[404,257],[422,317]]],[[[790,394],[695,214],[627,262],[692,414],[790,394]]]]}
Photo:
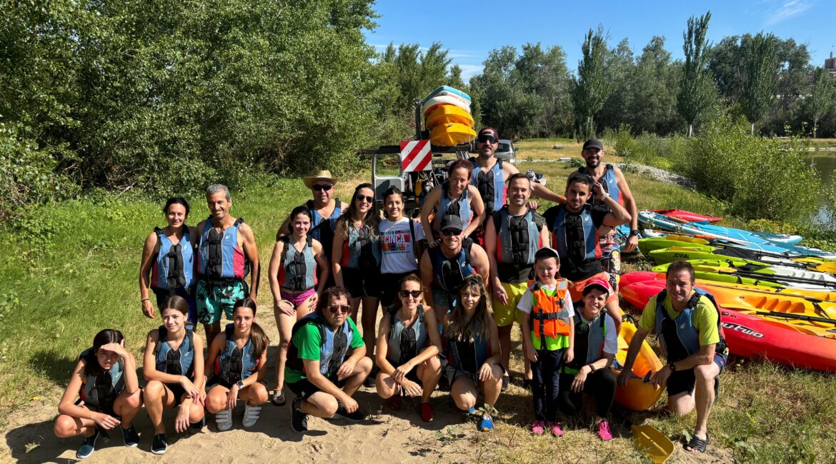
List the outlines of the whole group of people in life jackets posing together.
{"type": "MultiPolygon", "coordinates": [[[[619,378],[609,369],[621,324],[615,228],[630,223],[627,250],[638,240],[635,199],[624,175],[602,164],[604,146],[591,139],[581,153],[586,167],[568,177],[563,195],[555,194],[497,159],[498,139],[496,129],[480,130],[477,156],[448,167],[420,220],[405,215],[404,195],[395,187],[377,198],[373,185],[359,184],[344,203],[334,197],[338,179],[329,171],[304,179],[313,199],[281,224],[268,264],[278,326],[269,391],[269,340],[255,322],[260,265],[252,229],[229,214],[232,198],[221,184],[206,189],[210,216],[196,227],[186,225],[188,202],[169,199],[167,226],[148,235],[140,264],[142,310],[150,318],[158,311],[163,322],[146,340],[145,388],[122,334],[102,330],[79,356],[56,434],[84,436],[79,458],[117,425],[125,445],[136,446],[131,423],[145,404],[155,428],[152,451],[161,454],[167,448],[164,410],[177,408],[178,433],[204,426],[206,412],[226,431],[240,399],[248,427],[268,401],[286,404],[286,386],[293,392],[291,425],[302,432],[309,416],[363,420],[352,396],[364,384],[392,410],[404,396],[420,397],[424,421],[433,419],[431,395],[443,384],[453,403],[490,431],[492,407],[511,381],[516,322],[534,434],[563,435],[558,411],[579,411],[586,392],[596,404],[598,435],[611,439],[607,416],[617,382],[629,380],[640,341],[655,329],[667,341],[669,361],[672,353],[676,359],[654,381],[668,386],[670,405],[681,413],[689,399],[694,407],[696,384],[698,425],[688,446],[704,451],[706,395],[713,391],[706,393],[706,385],[722,368],[719,361],[710,364],[715,358],[706,361],[704,343],[718,343],[719,332],[704,330],[713,321],[710,311],[692,298],[681,275],[674,273],[675,286],[645,309],[619,378]],[[540,215],[532,195],[557,205],[540,215]],[[232,320],[224,330],[222,313],[232,320]],[[676,325],[682,314],[694,323],[676,325]],[[206,356],[194,330],[198,321],[209,343],[206,356]],[[489,407],[477,409],[480,392],[489,407]]],[[[715,327],[718,321],[717,315],[715,327]]]]}

